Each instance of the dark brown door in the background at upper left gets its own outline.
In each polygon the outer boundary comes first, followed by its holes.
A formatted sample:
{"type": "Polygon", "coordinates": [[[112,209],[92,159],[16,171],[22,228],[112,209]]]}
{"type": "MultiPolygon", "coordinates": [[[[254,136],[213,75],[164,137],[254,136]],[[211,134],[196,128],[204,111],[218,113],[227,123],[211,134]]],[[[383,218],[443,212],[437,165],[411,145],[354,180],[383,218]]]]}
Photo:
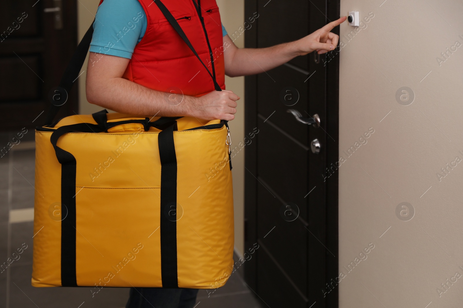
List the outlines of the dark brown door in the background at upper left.
{"type": "MultiPolygon", "coordinates": [[[[0,131],[43,125],[77,42],[75,0],[6,0],[0,10],[0,131]]],[[[61,116],[77,112],[77,87],[61,116]]]]}

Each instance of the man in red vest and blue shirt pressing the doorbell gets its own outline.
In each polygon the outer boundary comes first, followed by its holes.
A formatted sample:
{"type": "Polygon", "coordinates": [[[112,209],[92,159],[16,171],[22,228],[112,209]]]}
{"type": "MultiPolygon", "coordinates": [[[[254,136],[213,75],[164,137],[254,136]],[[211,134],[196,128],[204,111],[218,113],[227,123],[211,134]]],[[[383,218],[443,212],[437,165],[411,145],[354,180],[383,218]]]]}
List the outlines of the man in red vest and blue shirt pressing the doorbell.
{"type": "MultiPolygon", "coordinates": [[[[96,13],[87,69],[90,103],[137,116],[233,120],[239,97],[231,77],[257,74],[313,51],[333,50],[330,31],[345,17],[297,41],[237,48],[220,23],[215,0],[162,0],[207,70],[152,0],[104,0],[96,13]],[[223,91],[214,91],[211,76],[223,91]],[[178,95],[172,95],[172,93],[178,95]]],[[[131,288],[127,308],[192,308],[197,289],[131,288]]]]}

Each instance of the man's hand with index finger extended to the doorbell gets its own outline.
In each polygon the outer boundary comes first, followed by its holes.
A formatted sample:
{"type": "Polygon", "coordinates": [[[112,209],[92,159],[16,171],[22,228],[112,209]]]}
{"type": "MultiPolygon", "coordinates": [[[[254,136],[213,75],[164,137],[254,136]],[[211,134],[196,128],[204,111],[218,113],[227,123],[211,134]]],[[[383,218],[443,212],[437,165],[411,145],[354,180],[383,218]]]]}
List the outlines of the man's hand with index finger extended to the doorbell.
{"type": "Polygon", "coordinates": [[[346,17],[341,17],[338,20],[332,21],[325,25],[323,28],[314,31],[313,33],[305,36],[295,43],[300,55],[306,55],[314,50],[317,50],[318,54],[325,54],[330,50],[333,50],[338,45],[339,36],[330,32],[334,27],[344,23],[346,17]]]}

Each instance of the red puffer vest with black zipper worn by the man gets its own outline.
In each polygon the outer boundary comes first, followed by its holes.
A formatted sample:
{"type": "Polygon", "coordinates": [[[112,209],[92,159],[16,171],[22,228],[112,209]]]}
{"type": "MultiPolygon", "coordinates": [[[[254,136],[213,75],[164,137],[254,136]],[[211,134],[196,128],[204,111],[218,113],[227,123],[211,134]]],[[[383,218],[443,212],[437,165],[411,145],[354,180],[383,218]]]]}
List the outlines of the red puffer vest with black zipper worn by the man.
{"type": "MultiPolygon", "coordinates": [[[[123,78],[147,88],[167,92],[179,88],[181,93],[201,96],[214,91],[206,68],[181,39],[152,0],[138,0],[144,9],[147,26],[136,45],[123,78]]],[[[211,55],[194,0],[163,1],[177,19],[201,60],[212,73],[211,55]]],[[[100,1],[100,4],[103,0],[100,1]]],[[[201,16],[213,52],[216,80],[225,90],[223,36],[219,7],[215,0],[200,1],[201,16]]],[[[177,91],[175,91],[178,93],[177,91]]]]}

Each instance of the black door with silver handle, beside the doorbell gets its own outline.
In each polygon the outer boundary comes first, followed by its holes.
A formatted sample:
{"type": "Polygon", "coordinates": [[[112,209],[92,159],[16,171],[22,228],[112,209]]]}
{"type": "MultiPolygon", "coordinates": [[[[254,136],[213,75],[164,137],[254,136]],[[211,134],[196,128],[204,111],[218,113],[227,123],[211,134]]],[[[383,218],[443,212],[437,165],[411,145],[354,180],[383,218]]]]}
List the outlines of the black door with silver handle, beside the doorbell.
{"type": "MultiPolygon", "coordinates": [[[[245,16],[255,12],[245,44],[260,48],[321,28],[338,18],[339,4],[246,0],[245,16]]],[[[308,54],[246,77],[245,131],[258,133],[245,153],[245,248],[259,246],[245,278],[272,308],[338,307],[338,57],[308,54]],[[321,127],[296,121],[288,109],[318,114],[321,127]]]]}

